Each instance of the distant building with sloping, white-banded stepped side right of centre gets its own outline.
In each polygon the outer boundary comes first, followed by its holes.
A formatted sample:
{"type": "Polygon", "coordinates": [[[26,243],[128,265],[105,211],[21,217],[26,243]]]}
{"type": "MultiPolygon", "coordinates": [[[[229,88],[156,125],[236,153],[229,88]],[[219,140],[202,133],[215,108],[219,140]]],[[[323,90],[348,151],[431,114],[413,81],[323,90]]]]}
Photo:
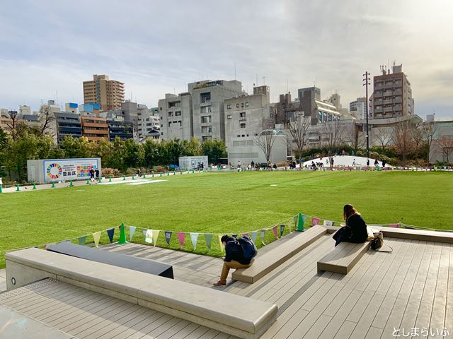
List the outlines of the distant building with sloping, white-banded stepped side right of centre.
{"type": "Polygon", "coordinates": [[[341,113],[330,102],[321,101],[321,90],[317,87],[299,88],[300,109],[304,117],[311,117],[311,125],[340,120],[341,113]]]}

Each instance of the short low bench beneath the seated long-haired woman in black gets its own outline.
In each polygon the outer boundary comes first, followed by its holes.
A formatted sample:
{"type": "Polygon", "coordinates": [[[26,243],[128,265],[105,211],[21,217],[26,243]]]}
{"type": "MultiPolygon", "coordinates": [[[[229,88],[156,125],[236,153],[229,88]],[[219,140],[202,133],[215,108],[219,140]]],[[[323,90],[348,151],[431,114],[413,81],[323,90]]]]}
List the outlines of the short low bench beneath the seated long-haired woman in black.
{"type": "Polygon", "coordinates": [[[340,242],[329,254],[318,261],[318,270],[348,274],[363,254],[368,251],[369,244],[370,242],[362,244],[340,242]]]}

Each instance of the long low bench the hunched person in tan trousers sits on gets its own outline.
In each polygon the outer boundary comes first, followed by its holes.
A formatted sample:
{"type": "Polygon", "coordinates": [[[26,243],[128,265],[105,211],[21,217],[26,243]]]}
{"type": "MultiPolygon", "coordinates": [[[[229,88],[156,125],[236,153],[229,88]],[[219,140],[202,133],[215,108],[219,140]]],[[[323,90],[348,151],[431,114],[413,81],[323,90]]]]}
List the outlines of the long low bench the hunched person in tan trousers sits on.
{"type": "Polygon", "coordinates": [[[275,249],[263,254],[263,256],[260,256],[258,252],[253,265],[249,268],[236,270],[232,275],[233,280],[251,284],[256,283],[266,274],[270,273],[270,271],[285,263],[289,258],[299,253],[299,251],[302,251],[306,246],[316,242],[326,232],[326,227],[316,225],[290,239],[288,242],[285,242],[284,246],[277,246],[275,249]]]}

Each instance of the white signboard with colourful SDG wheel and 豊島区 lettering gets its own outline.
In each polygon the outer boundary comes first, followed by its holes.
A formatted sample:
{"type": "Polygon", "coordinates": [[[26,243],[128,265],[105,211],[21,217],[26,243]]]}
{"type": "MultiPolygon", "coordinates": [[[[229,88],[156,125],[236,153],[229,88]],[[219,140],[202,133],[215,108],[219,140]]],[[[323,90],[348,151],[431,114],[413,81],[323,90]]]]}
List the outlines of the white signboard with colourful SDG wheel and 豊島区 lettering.
{"type": "Polygon", "coordinates": [[[43,167],[44,182],[89,179],[91,169],[101,170],[98,159],[45,160],[43,167]]]}

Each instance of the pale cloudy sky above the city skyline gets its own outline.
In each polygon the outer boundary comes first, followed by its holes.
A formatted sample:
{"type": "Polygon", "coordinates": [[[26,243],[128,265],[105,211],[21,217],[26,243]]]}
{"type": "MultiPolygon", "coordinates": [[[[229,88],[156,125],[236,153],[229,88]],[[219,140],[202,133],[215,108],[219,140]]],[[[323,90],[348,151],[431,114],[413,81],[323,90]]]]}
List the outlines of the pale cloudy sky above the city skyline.
{"type": "Polygon", "coordinates": [[[449,0],[1,0],[0,107],[83,102],[82,81],[108,74],[156,106],[200,79],[236,79],[364,96],[362,74],[403,64],[415,113],[453,119],[449,0]]]}

